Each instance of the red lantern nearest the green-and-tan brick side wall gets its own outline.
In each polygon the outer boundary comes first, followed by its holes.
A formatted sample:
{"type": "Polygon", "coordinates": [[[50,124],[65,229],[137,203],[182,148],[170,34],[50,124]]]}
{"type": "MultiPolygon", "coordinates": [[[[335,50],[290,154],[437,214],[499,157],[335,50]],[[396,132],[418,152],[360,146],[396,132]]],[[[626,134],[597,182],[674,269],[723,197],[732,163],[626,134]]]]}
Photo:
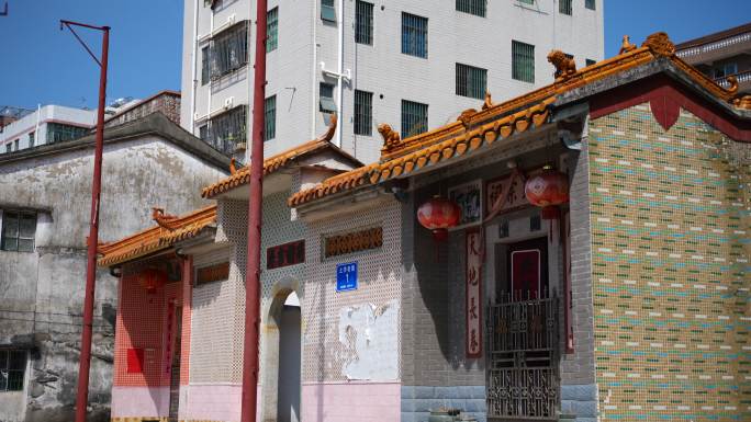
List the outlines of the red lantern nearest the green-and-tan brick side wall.
{"type": "Polygon", "coordinates": [[[558,219],[561,204],[569,202],[569,178],[558,170],[546,166],[540,174],[527,180],[524,185],[524,194],[530,204],[542,207],[542,219],[558,219]]]}

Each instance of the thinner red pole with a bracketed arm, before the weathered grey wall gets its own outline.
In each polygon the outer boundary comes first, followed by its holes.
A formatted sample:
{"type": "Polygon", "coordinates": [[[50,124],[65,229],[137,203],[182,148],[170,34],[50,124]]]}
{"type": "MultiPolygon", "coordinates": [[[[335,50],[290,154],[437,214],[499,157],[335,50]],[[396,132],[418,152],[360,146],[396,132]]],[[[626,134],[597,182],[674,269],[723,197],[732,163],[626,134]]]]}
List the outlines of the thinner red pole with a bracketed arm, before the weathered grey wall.
{"type": "MultiPolygon", "coordinates": [[[[90,25],[86,25],[91,27],[90,25]]],[[[102,149],[104,145],[104,98],[107,93],[107,55],[110,44],[110,27],[102,26],[102,59],[99,73],[99,109],[97,110],[97,138],[94,147],[94,173],[91,186],[91,219],[86,263],[86,298],[83,300],[83,330],[81,333],[81,357],[78,366],[78,394],[76,395],[76,422],[86,422],[89,402],[89,369],[91,367],[91,328],[93,322],[93,299],[97,278],[97,246],[99,243],[99,197],[102,184],[102,149]]]]}

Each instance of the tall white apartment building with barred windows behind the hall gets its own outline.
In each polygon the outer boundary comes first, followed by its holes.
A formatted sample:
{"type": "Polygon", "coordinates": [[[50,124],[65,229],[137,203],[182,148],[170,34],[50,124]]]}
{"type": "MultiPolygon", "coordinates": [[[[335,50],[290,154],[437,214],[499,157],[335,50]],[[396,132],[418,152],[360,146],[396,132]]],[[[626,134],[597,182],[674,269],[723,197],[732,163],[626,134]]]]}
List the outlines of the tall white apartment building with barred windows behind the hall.
{"type": "MultiPolygon", "coordinates": [[[[268,1],[267,156],[314,138],[379,158],[402,137],[552,82],[552,49],[603,59],[604,0],[268,1]],[[341,88],[339,94],[339,88],[341,88]]],[[[251,122],[253,0],[186,0],[181,125],[242,157],[251,122]]]]}

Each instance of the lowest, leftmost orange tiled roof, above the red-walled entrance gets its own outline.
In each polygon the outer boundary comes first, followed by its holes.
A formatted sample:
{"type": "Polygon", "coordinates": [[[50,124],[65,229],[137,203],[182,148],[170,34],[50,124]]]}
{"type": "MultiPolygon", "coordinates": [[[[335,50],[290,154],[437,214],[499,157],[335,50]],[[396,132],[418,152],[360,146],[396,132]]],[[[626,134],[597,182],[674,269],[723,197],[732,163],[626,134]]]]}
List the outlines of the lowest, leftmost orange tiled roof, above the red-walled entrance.
{"type": "Polygon", "coordinates": [[[203,229],[216,224],[216,205],[194,210],[180,217],[170,217],[168,224],[157,219],[157,225],[113,243],[102,244],[99,266],[116,265],[170,248],[175,243],[198,236],[203,229]]]}

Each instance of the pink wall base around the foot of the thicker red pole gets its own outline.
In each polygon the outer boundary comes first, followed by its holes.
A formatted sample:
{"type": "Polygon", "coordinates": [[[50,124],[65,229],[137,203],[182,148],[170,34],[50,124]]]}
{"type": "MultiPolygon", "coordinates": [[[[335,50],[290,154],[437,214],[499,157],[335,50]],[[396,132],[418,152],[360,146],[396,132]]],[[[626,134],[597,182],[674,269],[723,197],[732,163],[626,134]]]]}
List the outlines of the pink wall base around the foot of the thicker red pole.
{"type": "MultiPolygon", "coordinates": [[[[260,420],[260,386],[258,418],[260,420]]],[[[240,384],[189,385],[180,387],[179,419],[186,421],[237,422],[240,417],[240,384]]]]}

